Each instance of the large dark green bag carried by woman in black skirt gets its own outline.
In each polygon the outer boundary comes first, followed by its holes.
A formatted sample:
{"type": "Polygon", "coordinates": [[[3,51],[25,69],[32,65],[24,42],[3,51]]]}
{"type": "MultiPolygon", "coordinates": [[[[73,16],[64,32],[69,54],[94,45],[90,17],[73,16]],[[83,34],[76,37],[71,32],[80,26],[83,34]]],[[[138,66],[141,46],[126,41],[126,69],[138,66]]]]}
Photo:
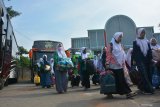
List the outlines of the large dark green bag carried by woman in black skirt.
{"type": "Polygon", "coordinates": [[[115,78],[112,74],[100,77],[100,94],[116,94],[115,78]]]}

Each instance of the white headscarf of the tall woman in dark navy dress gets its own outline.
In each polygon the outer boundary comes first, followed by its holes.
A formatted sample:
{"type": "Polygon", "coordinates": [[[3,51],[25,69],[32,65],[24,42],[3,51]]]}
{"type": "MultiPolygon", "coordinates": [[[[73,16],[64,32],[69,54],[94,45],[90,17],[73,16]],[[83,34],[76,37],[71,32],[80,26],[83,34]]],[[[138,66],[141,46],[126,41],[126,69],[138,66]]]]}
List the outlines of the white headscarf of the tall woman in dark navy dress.
{"type": "Polygon", "coordinates": [[[137,32],[137,38],[136,38],[136,42],[137,45],[140,47],[141,52],[143,53],[144,56],[147,55],[148,52],[148,40],[146,37],[144,37],[144,39],[139,39],[139,37],[141,36],[142,31],[145,30],[144,28],[139,28],[138,32],[137,32]]]}

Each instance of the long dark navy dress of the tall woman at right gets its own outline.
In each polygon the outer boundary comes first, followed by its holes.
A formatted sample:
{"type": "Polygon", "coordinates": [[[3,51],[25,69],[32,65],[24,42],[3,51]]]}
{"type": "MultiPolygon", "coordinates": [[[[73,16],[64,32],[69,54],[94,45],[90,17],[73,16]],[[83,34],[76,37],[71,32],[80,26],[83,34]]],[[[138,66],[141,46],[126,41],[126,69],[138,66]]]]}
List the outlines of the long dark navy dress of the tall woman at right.
{"type": "Polygon", "coordinates": [[[152,60],[152,51],[150,45],[148,43],[149,50],[147,55],[144,56],[141,52],[140,47],[137,45],[137,42],[133,42],[133,52],[131,58],[131,64],[133,65],[133,61],[136,62],[138,70],[140,72],[140,81],[138,83],[138,88],[141,91],[152,93],[152,71],[151,71],[151,60],[152,60]]]}

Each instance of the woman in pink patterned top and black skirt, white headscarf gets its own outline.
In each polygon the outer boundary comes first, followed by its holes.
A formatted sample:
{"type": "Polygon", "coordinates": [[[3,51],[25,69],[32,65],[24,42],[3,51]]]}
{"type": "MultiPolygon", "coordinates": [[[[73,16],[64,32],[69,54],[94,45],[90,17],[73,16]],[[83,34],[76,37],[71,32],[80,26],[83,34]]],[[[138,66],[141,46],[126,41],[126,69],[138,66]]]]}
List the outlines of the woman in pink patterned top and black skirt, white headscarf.
{"type": "Polygon", "coordinates": [[[115,77],[117,94],[126,95],[126,98],[133,97],[135,93],[131,93],[125,77],[125,52],[121,44],[123,32],[116,32],[106,51],[106,69],[110,69],[115,77]]]}

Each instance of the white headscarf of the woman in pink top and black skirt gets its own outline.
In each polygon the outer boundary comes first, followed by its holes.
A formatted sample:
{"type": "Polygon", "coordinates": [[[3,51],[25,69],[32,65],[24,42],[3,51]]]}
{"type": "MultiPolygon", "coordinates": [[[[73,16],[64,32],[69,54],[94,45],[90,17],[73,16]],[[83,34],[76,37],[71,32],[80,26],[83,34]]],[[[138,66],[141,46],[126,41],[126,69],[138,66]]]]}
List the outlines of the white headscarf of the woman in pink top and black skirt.
{"type": "Polygon", "coordinates": [[[116,32],[113,35],[113,38],[111,40],[111,43],[113,44],[113,51],[112,54],[114,55],[114,57],[116,58],[118,64],[120,64],[121,66],[125,63],[125,52],[122,48],[121,43],[116,43],[115,40],[117,40],[119,38],[119,36],[123,36],[123,32],[116,32]]]}

